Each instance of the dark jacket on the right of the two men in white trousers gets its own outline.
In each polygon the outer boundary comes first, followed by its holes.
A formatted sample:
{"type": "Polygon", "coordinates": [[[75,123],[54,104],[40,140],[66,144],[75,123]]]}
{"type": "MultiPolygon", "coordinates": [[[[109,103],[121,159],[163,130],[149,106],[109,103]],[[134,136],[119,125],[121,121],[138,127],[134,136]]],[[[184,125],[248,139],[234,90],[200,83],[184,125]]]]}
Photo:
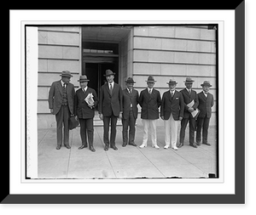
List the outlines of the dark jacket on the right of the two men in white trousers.
{"type": "Polygon", "coordinates": [[[184,101],[183,95],[175,90],[173,96],[171,96],[170,90],[163,94],[162,103],[160,107],[160,116],[164,116],[164,120],[168,120],[171,116],[174,120],[178,120],[179,116],[183,117],[184,101]]]}

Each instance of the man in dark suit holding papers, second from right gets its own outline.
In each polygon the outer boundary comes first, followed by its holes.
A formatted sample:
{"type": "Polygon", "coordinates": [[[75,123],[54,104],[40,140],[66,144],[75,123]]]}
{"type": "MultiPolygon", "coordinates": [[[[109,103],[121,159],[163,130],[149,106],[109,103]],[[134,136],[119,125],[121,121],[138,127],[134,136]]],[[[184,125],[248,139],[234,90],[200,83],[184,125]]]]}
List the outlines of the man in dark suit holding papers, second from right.
{"type": "Polygon", "coordinates": [[[184,138],[185,138],[185,130],[189,122],[189,145],[191,145],[194,148],[197,148],[195,144],[195,117],[192,116],[191,112],[195,111],[198,106],[198,98],[195,90],[192,90],[192,85],[194,80],[191,79],[191,77],[187,77],[185,82],[186,88],[183,88],[180,93],[183,94],[183,100],[184,100],[184,114],[183,114],[183,120],[181,122],[181,129],[180,129],[180,135],[179,135],[179,145],[177,147],[182,147],[184,144],[184,138]],[[189,103],[194,102],[194,105],[192,107],[189,107],[189,103]]]}

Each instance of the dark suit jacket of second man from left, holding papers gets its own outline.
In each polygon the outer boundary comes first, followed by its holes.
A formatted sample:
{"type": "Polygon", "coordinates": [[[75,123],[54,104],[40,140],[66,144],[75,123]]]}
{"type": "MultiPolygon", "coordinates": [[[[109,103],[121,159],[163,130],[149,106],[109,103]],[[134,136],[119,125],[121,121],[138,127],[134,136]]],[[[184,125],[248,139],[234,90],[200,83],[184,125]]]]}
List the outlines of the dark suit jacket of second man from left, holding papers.
{"type": "Polygon", "coordinates": [[[90,119],[95,116],[94,110],[98,105],[99,99],[96,95],[96,91],[93,88],[87,88],[86,92],[79,88],[75,95],[74,114],[82,119],[90,119]],[[94,107],[91,109],[84,100],[89,93],[92,93],[94,99],[94,107]]]}

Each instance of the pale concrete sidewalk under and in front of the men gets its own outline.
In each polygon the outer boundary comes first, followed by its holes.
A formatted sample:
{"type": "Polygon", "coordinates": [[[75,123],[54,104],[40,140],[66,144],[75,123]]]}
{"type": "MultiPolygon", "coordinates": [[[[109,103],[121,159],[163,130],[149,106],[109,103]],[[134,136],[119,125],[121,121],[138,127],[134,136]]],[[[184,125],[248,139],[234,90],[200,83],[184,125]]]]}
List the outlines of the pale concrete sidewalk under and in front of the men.
{"type": "MultiPolygon", "coordinates": [[[[56,148],[55,128],[38,129],[38,178],[208,178],[209,173],[217,175],[216,127],[209,128],[208,140],[211,146],[201,144],[198,148],[189,146],[189,128],[185,143],[179,150],[165,150],[164,127],[157,127],[157,142],[160,149],[140,149],[143,142],[143,127],[137,126],[137,147],[122,147],[122,127],[117,127],[116,146],[118,150],[103,150],[103,127],[95,127],[94,148],[79,150],[80,127],[70,131],[71,149],[62,145],[56,148]]],[[[179,131],[179,130],[178,130],[179,131]]]]}

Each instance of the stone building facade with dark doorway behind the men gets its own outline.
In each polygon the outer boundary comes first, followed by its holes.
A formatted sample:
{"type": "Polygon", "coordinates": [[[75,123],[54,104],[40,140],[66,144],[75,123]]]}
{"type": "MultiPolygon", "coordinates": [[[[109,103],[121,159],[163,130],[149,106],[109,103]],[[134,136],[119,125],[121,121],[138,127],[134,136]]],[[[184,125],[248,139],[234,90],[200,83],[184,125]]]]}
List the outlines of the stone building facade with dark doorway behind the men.
{"type": "MultiPolygon", "coordinates": [[[[107,69],[116,73],[114,81],[122,88],[125,79],[132,76],[139,92],[152,75],[157,81],[154,88],[161,95],[168,90],[170,78],[181,90],[186,76],[191,76],[197,92],[202,82],[210,81],[215,98],[211,125],[216,125],[217,65],[217,33],[208,25],[38,26],[38,128],[55,127],[48,93],[61,71],[71,71],[76,88],[79,76],[86,74],[90,88],[99,93],[107,69]]],[[[139,119],[137,123],[141,123],[139,119]]]]}

